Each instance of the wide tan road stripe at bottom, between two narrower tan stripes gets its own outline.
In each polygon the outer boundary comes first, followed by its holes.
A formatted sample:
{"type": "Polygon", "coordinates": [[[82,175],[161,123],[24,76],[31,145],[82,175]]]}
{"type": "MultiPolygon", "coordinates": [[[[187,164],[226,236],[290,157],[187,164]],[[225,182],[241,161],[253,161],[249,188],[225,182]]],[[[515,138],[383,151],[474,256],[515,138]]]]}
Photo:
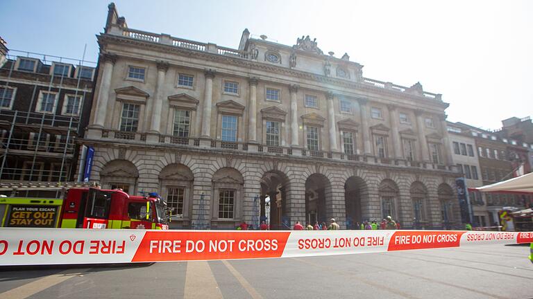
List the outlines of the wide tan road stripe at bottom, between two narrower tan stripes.
{"type": "Polygon", "coordinates": [[[208,262],[187,262],[185,299],[223,298],[208,262]]]}

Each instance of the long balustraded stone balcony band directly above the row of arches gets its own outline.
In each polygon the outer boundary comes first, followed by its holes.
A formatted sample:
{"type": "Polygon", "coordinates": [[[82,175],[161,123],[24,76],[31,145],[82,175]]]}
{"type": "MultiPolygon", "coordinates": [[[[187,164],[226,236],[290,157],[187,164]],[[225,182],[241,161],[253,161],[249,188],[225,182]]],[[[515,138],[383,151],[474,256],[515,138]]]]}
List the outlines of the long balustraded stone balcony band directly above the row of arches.
{"type": "Polygon", "coordinates": [[[121,132],[103,129],[101,138],[88,138],[97,141],[108,141],[124,145],[147,145],[175,147],[176,149],[198,149],[232,152],[235,154],[258,154],[261,156],[285,156],[292,158],[308,158],[322,161],[342,161],[342,163],[365,163],[391,167],[409,167],[427,170],[458,172],[456,165],[441,165],[423,161],[407,161],[400,158],[379,158],[370,155],[345,154],[323,150],[310,150],[304,147],[269,146],[257,143],[229,142],[201,137],[176,137],[172,135],[153,135],[141,132],[121,132]],[[152,137],[153,136],[153,137],[152,137]]]}

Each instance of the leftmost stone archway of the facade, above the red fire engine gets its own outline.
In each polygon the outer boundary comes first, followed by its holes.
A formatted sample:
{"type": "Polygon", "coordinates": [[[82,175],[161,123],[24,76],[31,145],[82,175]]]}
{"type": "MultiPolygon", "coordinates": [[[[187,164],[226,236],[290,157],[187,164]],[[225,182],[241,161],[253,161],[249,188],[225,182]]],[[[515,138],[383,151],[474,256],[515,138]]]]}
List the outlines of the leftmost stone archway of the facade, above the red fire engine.
{"type": "Polygon", "coordinates": [[[124,192],[136,195],[139,171],[133,163],[127,160],[113,160],[105,164],[100,171],[100,180],[105,189],[122,189],[124,192]]]}

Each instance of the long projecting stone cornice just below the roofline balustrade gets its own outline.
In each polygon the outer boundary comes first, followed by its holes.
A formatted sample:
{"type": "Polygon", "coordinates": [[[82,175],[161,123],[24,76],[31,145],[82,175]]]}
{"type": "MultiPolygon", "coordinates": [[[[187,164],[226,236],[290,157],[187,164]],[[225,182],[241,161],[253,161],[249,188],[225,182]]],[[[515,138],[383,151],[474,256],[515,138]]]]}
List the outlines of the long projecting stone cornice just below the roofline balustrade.
{"type": "MultiPolygon", "coordinates": [[[[430,98],[425,98],[423,96],[417,96],[411,93],[403,93],[403,92],[394,91],[391,89],[382,89],[380,87],[363,84],[361,82],[353,82],[353,81],[341,80],[337,78],[325,77],[324,75],[318,75],[315,73],[307,73],[305,71],[298,71],[295,69],[288,69],[282,66],[276,66],[274,64],[264,64],[264,63],[255,62],[252,60],[244,60],[238,57],[218,55],[216,53],[209,53],[205,51],[197,51],[193,49],[180,48],[180,47],[171,46],[167,44],[157,44],[153,42],[146,42],[146,41],[142,41],[139,39],[121,37],[119,35],[101,34],[97,38],[98,38],[98,41],[101,47],[103,46],[104,48],[107,42],[117,42],[117,43],[128,44],[128,45],[142,46],[150,51],[154,51],[157,48],[160,51],[164,51],[165,53],[179,53],[184,56],[189,56],[189,57],[194,56],[194,57],[198,57],[204,60],[210,60],[210,61],[222,62],[222,63],[227,63],[227,64],[233,64],[237,66],[243,66],[246,69],[257,69],[261,71],[268,71],[271,73],[280,73],[284,75],[293,76],[296,78],[314,80],[316,82],[319,82],[319,84],[336,85],[337,87],[356,89],[357,91],[371,91],[374,93],[379,93],[380,95],[383,95],[383,96],[393,96],[397,98],[414,100],[416,102],[421,102],[426,105],[428,104],[438,105],[439,107],[443,107],[443,109],[446,109],[446,107],[449,106],[449,104],[446,102],[432,100],[430,98]]],[[[115,54],[120,55],[120,53],[115,53],[115,54]]],[[[198,67],[198,69],[201,69],[201,67],[198,67]]]]}

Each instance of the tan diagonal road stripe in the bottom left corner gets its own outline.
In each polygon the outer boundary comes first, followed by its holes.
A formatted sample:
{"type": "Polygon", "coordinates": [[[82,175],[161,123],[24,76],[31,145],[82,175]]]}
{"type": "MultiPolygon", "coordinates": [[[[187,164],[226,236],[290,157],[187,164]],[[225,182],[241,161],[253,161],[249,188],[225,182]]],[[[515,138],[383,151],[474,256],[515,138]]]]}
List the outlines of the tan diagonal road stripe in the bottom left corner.
{"type": "Polygon", "coordinates": [[[40,278],[38,280],[34,280],[33,282],[28,282],[27,284],[24,284],[20,287],[16,287],[15,289],[10,289],[9,291],[0,293],[0,298],[10,298],[10,299],[28,298],[29,296],[35,295],[35,293],[44,291],[45,289],[48,289],[49,287],[53,287],[56,284],[60,284],[61,282],[64,282],[65,280],[74,278],[87,271],[89,271],[89,269],[69,269],[69,270],[61,271],[53,275],[48,275],[48,276],[45,276],[44,278],[40,278]]]}

